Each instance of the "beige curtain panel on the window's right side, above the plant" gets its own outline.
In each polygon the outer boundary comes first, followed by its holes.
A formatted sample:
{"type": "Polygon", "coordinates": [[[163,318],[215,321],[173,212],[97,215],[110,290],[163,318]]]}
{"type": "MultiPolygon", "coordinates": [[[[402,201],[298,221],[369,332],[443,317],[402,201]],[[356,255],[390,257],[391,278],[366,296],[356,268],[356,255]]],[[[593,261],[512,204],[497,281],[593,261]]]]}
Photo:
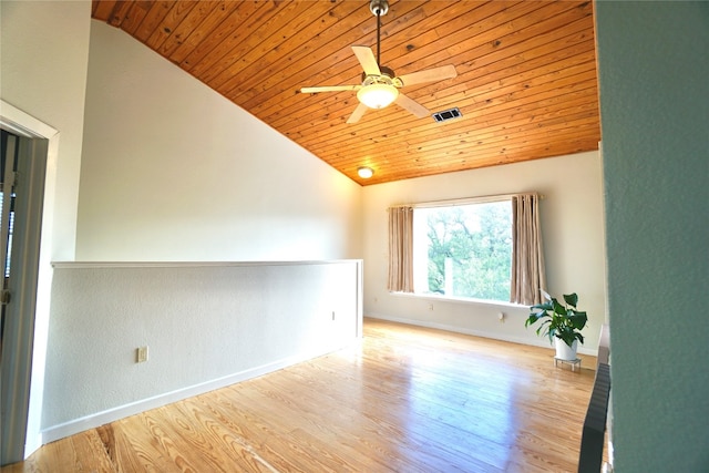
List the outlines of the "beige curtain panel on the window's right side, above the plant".
{"type": "Polygon", "coordinates": [[[546,289],[540,197],[521,194],[512,197],[512,284],[510,301],[527,306],[541,304],[546,289]]]}

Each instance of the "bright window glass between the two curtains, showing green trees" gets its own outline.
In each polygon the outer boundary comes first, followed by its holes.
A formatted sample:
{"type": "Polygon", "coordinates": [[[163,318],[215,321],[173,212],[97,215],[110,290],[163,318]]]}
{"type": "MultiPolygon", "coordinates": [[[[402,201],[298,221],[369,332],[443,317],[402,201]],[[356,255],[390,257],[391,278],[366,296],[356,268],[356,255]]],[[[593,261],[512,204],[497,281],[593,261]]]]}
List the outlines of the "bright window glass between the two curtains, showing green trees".
{"type": "Polygon", "coordinates": [[[414,292],[510,300],[510,198],[413,208],[414,292]]]}

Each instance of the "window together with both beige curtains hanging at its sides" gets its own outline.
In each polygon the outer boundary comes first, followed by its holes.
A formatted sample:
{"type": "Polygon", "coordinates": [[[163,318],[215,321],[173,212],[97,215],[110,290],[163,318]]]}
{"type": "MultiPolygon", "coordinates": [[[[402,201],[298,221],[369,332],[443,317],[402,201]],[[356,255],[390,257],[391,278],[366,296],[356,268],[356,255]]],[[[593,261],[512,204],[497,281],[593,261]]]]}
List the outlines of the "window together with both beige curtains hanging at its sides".
{"type": "Polygon", "coordinates": [[[540,196],[389,207],[391,292],[530,306],[545,288],[540,196]]]}

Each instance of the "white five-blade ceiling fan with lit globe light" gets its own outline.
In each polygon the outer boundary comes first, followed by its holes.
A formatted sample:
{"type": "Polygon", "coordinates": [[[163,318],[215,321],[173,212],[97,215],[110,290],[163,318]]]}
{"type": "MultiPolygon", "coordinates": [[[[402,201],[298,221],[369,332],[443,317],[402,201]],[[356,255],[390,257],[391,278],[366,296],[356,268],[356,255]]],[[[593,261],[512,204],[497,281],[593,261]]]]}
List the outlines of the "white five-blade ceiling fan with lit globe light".
{"type": "Polygon", "coordinates": [[[388,0],[371,0],[370,11],[377,17],[377,56],[371,48],[353,45],[352,51],[357,60],[362,65],[362,83],[352,85],[322,85],[315,88],[302,88],[301,93],[318,92],[342,92],[357,91],[359,104],[352,112],[347,123],[357,123],[364,115],[367,109],[383,109],[391,103],[395,103],[402,109],[417,115],[419,119],[431,114],[429,110],[419,102],[399,92],[405,85],[421,84],[424,82],[442,81],[458,75],[454,65],[443,65],[441,68],[428,69],[413,72],[411,74],[394,75],[394,71],[380,65],[380,30],[381,16],[389,11],[388,0]]]}

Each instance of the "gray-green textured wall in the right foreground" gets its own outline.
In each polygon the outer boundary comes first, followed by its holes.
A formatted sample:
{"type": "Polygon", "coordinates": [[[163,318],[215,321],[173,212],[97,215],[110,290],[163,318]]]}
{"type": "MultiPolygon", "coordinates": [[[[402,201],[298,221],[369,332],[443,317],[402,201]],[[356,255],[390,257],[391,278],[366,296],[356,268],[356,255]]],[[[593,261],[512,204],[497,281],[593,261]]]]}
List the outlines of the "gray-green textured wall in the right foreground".
{"type": "Polygon", "coordinates": [[[709,471],[709,2],[596,4],[617,472],[709,471]]]}

